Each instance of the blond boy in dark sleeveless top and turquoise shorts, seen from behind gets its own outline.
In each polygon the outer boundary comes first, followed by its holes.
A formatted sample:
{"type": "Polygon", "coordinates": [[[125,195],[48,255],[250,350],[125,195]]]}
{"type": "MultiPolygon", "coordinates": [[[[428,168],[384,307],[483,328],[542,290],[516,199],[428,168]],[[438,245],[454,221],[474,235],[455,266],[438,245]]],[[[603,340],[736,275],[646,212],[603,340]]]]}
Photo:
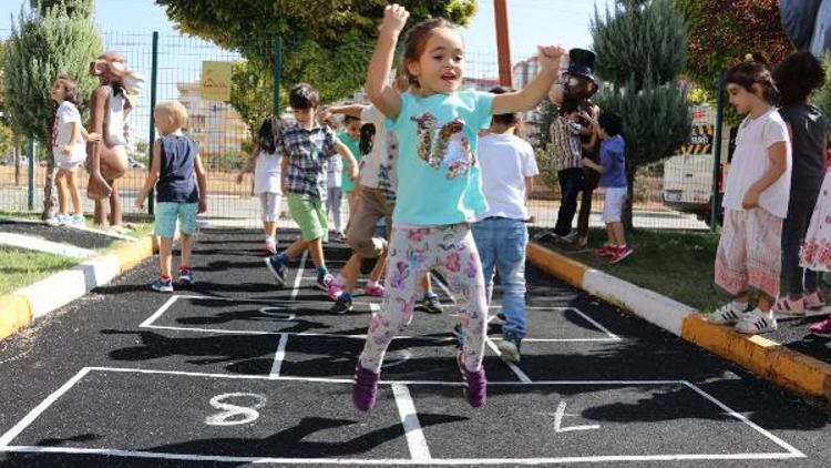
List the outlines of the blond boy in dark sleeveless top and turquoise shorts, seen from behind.
{"type": "Polygon", "coordinates": [[[177,222],[182,242],[178,282],[194,282],[191,251],[196,232],[196,214],[207,211],[207,177],[196,143],[182,135],[182,128],[187,122],[185,106],[178,101],[160,102],[153,110],[153,120],[162,136],[153,144],[150,173],[135,199],[135,206],[144,210],[147,194],[156,187],[154,234],[160,237],[158,262],[162,272],[151,287],[160,293],[173,293],[171,269],[177,222]]]}

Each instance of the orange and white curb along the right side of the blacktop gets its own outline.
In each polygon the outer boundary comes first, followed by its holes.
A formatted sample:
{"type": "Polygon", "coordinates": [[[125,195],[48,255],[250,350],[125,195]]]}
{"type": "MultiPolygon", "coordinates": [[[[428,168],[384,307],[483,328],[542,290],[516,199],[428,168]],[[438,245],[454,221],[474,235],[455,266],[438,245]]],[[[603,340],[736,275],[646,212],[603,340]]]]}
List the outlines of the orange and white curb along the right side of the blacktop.
{"type": "Polygon", "coordinates": [[[831,365],[758,335],[714,325],[693,307],[591,268],[535,243],[527,260],[574,287],[637,315],[781,387],[831,400],[831,365]]]}

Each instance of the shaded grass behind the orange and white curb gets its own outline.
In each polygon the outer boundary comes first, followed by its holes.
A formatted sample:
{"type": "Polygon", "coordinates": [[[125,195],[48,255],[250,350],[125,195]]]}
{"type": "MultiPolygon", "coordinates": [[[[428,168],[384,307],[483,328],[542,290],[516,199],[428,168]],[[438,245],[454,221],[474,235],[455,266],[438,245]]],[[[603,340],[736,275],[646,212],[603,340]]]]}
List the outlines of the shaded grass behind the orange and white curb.
{"type": "Polygon", "coordinates": [[[627,243],[635,253],[617,265],[609,265],[594,253],[606,240],[605,230],[591,230],[588,238],[588,248],[579,252],[566,251],[550,237],[542,244],[698,311],[712,311],[727,299],[714,284],[718,234],[636,230],[626,234],[627,243]]]}

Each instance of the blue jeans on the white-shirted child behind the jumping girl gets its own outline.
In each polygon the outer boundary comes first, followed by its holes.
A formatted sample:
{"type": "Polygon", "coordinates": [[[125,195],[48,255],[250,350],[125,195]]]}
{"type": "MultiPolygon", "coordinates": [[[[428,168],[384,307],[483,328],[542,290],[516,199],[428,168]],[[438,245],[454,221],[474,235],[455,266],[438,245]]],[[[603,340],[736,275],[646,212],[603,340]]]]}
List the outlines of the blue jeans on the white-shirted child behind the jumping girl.
{"type": "Polygon", "coordinates": [[[473,240],[482,260],[488,297],[493,292],[494,268],[500,272],[503,287],[502,312],[505,339],[525,337],[525,247],[529,230],[522,220],[504,217],[482,220],[473,224],[473,240]]]}

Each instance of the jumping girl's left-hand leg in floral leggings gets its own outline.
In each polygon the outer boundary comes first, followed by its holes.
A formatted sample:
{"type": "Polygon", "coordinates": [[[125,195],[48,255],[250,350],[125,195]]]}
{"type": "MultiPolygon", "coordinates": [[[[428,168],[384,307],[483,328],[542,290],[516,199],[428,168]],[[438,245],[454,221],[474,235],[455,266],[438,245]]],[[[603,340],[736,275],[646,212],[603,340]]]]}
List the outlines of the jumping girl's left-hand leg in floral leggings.
{"type": "Polygon", "coordinates": [[[429,237],[432,231],[433,228],[392,230],[390,257],[387,262],[387,293],[381,311],[369,323],[367,342],[359,358],[359,364],[367,370],[380,373],[383,355],[392,337],[412,317],[416,301],[419,299],[418,282],[435,261],[434,250],[430,248],[429,237]],[[408,257],[408,251],[414,252],[414,256],[408,257]]]}

